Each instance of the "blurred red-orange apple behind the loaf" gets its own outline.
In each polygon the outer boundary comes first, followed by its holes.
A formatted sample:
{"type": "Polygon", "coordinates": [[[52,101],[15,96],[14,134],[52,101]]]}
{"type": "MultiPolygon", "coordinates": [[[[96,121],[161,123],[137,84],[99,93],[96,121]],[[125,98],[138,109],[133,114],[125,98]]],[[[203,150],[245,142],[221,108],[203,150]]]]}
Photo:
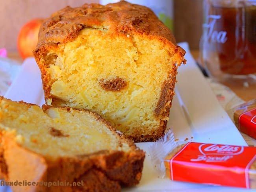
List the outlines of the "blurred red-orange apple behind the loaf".
{"type": "Polygon", "coordinates": [[[37,45],[38,32],[42,22],[42,18],[35,18],[24,24],[20,29],[17,48],[22,59],[33,57],[33,50],[37,45]]]}

